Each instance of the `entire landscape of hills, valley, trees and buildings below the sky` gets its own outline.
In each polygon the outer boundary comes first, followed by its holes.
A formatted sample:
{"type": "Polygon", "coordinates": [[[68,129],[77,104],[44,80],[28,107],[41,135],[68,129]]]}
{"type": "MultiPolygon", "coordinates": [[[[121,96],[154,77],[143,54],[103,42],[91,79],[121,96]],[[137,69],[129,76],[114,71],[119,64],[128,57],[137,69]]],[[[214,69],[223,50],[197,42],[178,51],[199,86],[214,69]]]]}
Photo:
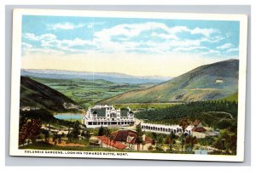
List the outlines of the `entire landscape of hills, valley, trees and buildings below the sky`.
{"type": "Polygon", "coordinates": [[[80,72],[26,71],[19,148],[236,155],[238,62],[200,66],[160,83],[116,73],[84,73],[85,79],[80,72]],[[137,138],[126,142],[127,134],[137,138]]]}

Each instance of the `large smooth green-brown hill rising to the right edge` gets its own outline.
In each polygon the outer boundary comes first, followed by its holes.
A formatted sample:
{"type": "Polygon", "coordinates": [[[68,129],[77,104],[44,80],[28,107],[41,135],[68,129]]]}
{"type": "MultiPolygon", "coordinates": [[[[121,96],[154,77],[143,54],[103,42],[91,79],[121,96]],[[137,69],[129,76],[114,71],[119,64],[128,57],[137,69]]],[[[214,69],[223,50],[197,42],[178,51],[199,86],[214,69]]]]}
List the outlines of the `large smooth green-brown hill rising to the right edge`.
{"type": "Polygon", "coordinates": [[[199,66],[151,88],[119,94],[100,104],[157,103],[218,100],[234,94],[238,87],[239,60],[224,60],[199,66]]]}

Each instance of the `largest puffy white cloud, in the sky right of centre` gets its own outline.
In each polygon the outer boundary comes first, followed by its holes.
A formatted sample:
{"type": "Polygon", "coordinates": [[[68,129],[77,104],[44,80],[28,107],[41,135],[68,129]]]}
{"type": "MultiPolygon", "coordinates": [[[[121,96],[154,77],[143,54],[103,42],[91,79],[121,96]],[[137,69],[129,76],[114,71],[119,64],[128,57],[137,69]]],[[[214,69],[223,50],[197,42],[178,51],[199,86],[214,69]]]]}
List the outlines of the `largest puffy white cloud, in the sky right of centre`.
{"type": "Polygon", "coordinates": [[[152,53],[161,52],[160,54],[162,54],[166,53],[166,51],[172,51],[172,48],[200,47],[202,42],[217,43],[221,40],[221,37],[218,35],[212,36],[212,34],[218,32],[218,30],[212,28],[196,27],[195,29],[189,29],[187,26],[169,27],[163,23],[147,22],[142,24],[122,24],[96,31],[94,41],[105,52],[147,50],[152,53]],[[143,32],[148,36],[140,37],[143,32]],[[181,32],[187,32],[190,35],[201,34],[202,37],[198,39],[189,39],[189,36],[181,38],[177,35],[177,33],[181,32]],[[113,38],[115,38],[114,41],[113,38]]]}

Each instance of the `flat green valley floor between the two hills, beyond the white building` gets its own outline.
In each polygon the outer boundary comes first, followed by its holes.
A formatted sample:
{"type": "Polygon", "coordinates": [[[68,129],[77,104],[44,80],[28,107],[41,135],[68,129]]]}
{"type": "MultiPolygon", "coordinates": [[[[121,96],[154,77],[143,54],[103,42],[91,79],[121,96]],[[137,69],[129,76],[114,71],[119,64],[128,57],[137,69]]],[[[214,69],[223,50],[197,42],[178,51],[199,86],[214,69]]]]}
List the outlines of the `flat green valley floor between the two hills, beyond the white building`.
{"type": "Polygon", "coordinates": [[[53,88],[87,108],[99,100],[108,99],[135,89],[148,88],[152,84],[112,83],[105,80],[49,79],[32,77],[39,83],[53,88]]]}

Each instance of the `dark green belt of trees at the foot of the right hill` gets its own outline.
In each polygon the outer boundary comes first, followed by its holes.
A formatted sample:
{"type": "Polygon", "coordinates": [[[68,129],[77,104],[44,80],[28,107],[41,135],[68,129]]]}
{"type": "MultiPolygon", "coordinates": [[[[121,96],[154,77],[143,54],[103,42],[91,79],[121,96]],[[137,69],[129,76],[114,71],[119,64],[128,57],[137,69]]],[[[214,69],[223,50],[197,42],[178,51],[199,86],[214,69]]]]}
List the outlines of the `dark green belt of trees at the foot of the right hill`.
{"type": "Polygon", "coordinates": [[[136,117],[138,119],[145,119],[149,123],[168,124],[177,124],[180,119],[187,117],[190,120],[201,119],[201,122],[209,127],[224,128],[225,125],[232,126],[236,124],[237,103],[224,100],[189,102],[163,109],[142,111],[137,113],[136,117]],[[216,111],[216,113],[207,113],[209,111],[216,111]],[[218,114],[218,111],[230,113],[233,119],[229,115],[218,114]],[[227,118],[221,120],[223,117],[227,118]]]}

